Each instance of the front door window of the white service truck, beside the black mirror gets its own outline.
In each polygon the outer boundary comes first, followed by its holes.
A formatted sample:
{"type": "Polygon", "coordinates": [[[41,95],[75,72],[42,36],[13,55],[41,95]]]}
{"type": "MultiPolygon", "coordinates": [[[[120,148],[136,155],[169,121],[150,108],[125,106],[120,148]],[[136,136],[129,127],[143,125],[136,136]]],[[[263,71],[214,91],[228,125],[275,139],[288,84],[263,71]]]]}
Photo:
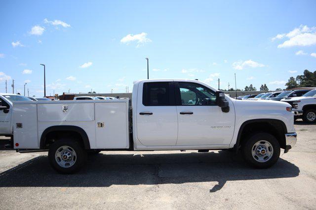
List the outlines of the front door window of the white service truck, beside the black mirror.
{"type": "Polygon", "coordinates": [[[216,93],[197,83],[179,82],[180,100],[182,106],[202,106],[208,100],[208,106],[215,106],[216,93]]]}

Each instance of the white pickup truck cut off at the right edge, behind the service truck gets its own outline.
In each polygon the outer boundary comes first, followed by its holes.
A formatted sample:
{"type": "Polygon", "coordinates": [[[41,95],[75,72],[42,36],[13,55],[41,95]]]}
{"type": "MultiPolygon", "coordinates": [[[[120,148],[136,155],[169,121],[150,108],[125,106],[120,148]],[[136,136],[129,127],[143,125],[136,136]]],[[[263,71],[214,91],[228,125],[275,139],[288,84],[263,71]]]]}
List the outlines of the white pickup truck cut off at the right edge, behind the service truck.
{"type": "Polygon", "coordinates": [[[316,122],[316,90],[311,90],[301,97],[284,98],[281,101],[292,106],[294,119],[302,118],[304,122],[316,122]]]}

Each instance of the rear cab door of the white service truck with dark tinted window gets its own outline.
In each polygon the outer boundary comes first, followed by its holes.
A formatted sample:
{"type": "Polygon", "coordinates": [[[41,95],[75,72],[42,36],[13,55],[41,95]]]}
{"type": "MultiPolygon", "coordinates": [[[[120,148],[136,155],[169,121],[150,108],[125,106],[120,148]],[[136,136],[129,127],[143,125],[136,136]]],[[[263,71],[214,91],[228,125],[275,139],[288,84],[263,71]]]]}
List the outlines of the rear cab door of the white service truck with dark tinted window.
{"type": "Polygon", "coordinates": [[[175,146],[177,111],[172,80],[140,83],[137,93],[137,138],[145,146],[175,146]]]}

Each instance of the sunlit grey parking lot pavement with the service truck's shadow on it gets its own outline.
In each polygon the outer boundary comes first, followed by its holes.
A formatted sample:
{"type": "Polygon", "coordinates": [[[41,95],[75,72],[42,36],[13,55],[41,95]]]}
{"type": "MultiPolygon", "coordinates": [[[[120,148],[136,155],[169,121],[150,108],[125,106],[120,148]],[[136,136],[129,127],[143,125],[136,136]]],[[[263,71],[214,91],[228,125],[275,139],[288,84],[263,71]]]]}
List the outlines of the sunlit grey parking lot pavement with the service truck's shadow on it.
{"type": "MultiPolygon", "coordinates": [[[[0,150],[1,209],[316,209],[316,125],[269,169],[223,150],[103,151],[60,175],[47,152],[0,150]]],[[[5,142],[5,140],[0,140],[5,142]]]]}

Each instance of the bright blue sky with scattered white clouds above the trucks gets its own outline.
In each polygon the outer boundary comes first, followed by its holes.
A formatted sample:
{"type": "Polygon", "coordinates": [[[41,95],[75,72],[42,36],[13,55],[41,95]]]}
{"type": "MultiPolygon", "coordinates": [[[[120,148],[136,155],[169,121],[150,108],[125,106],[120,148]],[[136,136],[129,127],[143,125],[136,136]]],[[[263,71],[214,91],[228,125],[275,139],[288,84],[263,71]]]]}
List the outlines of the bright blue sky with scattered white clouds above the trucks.
{"type": "Polygon", "coordinates": [[[0,1],[0,92],[132,91],[198,79],[220,89],[285,88],[316,70],[315,0],[0,1]]]}

